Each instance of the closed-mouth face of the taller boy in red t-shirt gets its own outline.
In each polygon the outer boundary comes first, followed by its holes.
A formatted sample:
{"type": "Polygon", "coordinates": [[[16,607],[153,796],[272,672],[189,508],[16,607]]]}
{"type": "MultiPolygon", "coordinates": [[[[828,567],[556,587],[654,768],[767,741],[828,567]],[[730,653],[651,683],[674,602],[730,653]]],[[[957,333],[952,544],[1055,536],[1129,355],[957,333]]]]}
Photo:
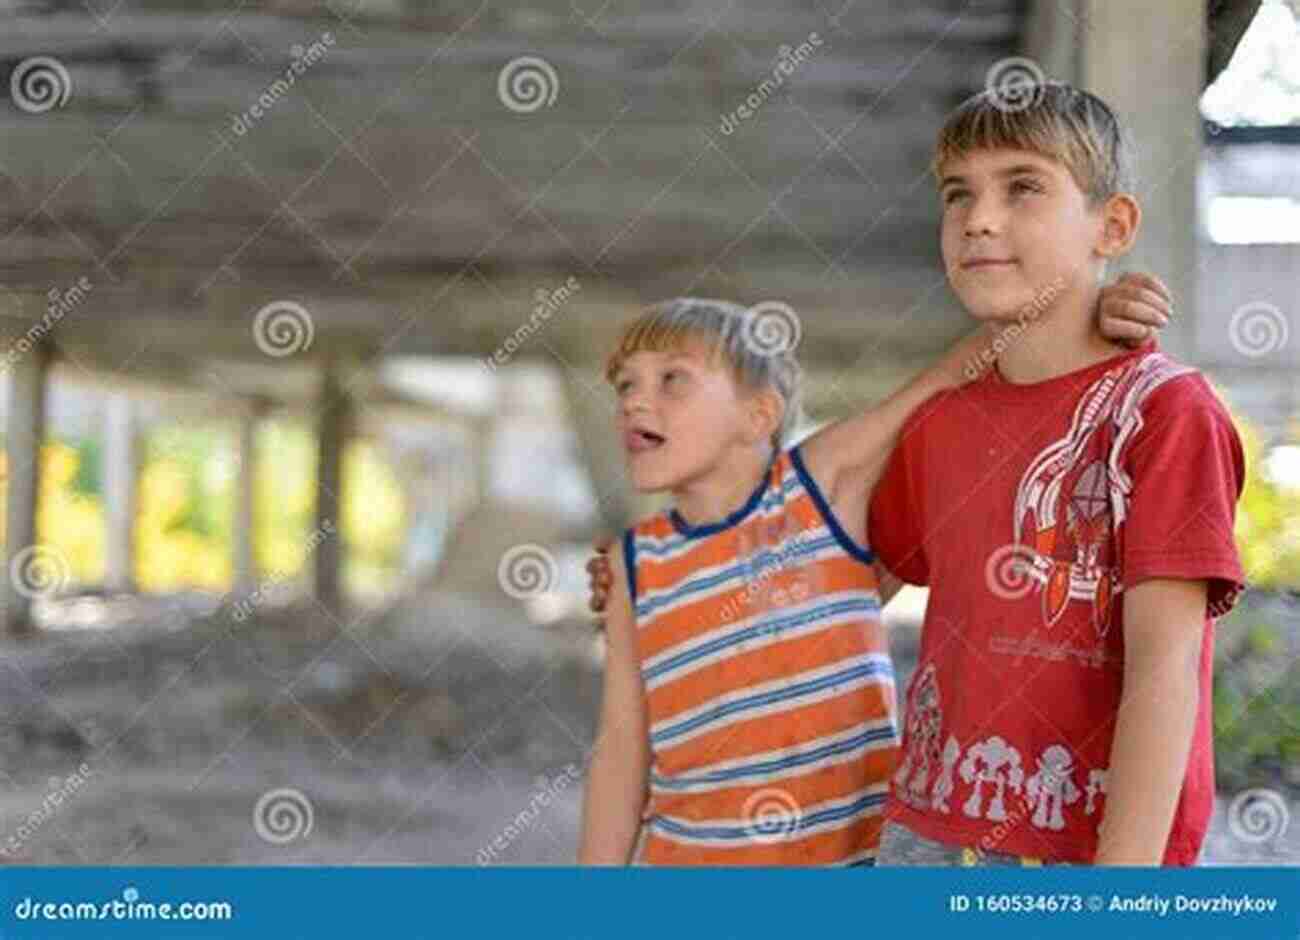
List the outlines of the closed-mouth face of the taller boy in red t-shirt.
{"type": "Polygon", "coordinates": [[[1015,320],[1096,282],[1104,213],[1058,161],[980,150],[940,172],[944,268],[979,320],[1015,320]]]}

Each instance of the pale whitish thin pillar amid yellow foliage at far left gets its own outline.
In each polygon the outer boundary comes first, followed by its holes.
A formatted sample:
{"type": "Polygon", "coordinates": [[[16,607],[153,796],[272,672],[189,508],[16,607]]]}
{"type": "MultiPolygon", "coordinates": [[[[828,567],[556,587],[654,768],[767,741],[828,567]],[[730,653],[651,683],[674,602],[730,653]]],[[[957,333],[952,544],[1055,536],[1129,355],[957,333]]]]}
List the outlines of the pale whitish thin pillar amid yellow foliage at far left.
{"type": "Polygon", "coordinates": [[[135,589],[135,512],[139,452],[131,399],[116,393],[104,411],[104,586],[135,589]]]}

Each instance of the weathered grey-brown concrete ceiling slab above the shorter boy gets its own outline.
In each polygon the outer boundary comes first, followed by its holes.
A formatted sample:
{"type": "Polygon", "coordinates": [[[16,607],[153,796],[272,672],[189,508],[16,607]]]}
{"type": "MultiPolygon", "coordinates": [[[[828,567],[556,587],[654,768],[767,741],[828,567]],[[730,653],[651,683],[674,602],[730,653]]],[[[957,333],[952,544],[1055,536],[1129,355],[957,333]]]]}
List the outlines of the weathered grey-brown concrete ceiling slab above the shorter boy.
{"type": "Polygon", "coordinates": [[[254,335],[272,302],[308,311],[303,356],[485,356],[575,277],[528,354],[589,360],[685,293],[792,303],[811,363],[926,352],[958,322],[930,147],[1015,53],[1019,8],[10,3],[5,73],[51,56],[70,94],[0,109],[3,322],[12,342],[86,278],[65,354],[185,382],[209,358],[283,368],[254,335]],[[520,56],[554,70],[551,105],[506,105],[520,56]]]}

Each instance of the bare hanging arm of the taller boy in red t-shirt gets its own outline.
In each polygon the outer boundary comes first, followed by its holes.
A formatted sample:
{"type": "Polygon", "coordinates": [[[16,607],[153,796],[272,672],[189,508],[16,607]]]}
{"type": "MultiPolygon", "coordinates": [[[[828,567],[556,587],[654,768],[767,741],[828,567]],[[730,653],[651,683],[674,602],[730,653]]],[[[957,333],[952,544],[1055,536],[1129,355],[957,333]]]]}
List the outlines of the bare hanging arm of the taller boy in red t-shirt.
{"type": "Polygon", "coordinates": [[[1205,581],[1124,592],[1124,679],[1097,865],[1161,865],[1187,770],[1200,689],[1205,581]]]}

